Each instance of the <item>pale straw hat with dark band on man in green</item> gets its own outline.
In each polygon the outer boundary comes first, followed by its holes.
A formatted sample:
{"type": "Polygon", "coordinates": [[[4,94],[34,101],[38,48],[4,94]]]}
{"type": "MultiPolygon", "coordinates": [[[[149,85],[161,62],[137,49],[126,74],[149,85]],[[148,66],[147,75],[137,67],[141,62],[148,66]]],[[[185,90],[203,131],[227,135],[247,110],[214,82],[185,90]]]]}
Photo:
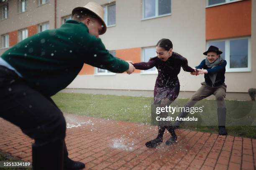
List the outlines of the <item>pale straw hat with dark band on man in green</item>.
{"type": "Polygon", "coordinates": [[[72,16],[77,11],[80,11],[81,13],[83,13],[83,12],[85,12],[87,10],[89,10],[92,13],[94,13],[99,18],[99,20],[102,22],[102,26],[103,27],[102,27],[102,30],[100,32],[100,35],[104,34],[106,32],[106,30],[107,30],[107,26],[106,26],[106,24],[104,22],[104,10],[103,10],[102,6],[100,6],[99,4],[90,2],[90,3],[87,3],[84,7],[74,8],[72,10],[72,16]]]}

